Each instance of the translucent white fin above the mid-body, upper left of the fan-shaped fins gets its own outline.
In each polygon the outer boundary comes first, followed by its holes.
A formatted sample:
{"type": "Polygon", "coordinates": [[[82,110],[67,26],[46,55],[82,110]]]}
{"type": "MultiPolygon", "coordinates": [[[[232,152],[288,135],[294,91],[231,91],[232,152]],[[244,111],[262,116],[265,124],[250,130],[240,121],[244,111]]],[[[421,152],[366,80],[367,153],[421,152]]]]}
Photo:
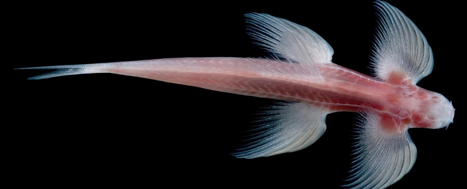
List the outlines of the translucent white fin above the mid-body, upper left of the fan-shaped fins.
{"type": "Polygon", "coordinates": [[[273,57],[298,62],[309,76],[322,78],[317,63],[330,63],[333,48],[311,29],[289,20],[264,13],[245,14],[247,33],[254,44],[269,51],[273,57]]]}

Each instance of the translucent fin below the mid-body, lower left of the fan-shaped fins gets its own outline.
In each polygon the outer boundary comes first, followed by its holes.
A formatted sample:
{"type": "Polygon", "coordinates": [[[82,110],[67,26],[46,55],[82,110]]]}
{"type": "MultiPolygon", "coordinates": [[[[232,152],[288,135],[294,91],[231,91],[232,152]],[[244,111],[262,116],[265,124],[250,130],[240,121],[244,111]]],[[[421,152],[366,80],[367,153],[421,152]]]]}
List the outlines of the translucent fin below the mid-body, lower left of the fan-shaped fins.
{"type": "Polygon", "coordinates": [[[232,155],[251,159],[306,148],[325,132],[328,113],[303,102],[273,106],[263,113],[262,124],[249,131],[249,143],[232,155]]]}

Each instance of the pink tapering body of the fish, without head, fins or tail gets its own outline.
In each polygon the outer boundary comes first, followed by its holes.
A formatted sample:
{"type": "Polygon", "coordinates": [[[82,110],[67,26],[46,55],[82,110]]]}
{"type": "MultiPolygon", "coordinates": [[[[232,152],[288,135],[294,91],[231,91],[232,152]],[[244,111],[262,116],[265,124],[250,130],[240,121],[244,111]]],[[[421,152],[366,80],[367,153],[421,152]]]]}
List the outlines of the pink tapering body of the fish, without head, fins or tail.
{"type": "MultiPolygon", "coordinates": [[[[174,58],[107,63],[106,72],[166,81],[215,91],[300,101],[329,112],[373,109],[383,128],[400,130],[420,115],[405,115],[407,91],[423,98],[425,89],[397,81],[378,81],[333,63],[317,64],[324,81],[298,63],[248,58],[174,58]]],[[[429,92],[429,91],[427,91],[429,92]]],[[[425,94],[426,96],[426,94],[425,94]]],[[[429,123],[418,123],[428,127],[429,123]]]]}

